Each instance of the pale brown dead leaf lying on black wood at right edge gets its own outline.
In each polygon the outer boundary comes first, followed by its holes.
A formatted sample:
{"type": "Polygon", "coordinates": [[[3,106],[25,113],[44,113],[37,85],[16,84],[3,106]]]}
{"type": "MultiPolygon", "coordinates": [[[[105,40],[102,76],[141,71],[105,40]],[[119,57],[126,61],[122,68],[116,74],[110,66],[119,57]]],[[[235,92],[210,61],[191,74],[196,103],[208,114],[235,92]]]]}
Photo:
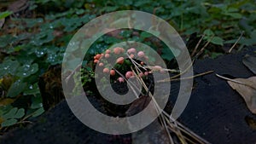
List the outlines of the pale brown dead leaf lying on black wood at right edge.
{"type": "Polygon", "coordinates": [[[247,107],[256,114],[256,77],[236,78],[234,81],[228,81],[232,89],[242,96],[246,101],[247,107]]]}

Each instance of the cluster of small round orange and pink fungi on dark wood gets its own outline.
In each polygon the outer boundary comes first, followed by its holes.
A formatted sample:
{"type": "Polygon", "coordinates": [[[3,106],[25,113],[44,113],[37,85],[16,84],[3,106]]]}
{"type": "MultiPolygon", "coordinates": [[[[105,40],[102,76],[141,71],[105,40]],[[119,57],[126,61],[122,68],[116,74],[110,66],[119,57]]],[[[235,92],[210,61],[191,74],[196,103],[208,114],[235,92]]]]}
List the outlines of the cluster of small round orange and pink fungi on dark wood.
{"type": "MultiPolygon", "coordinates": [[[[116,77],[118,76],[117,78],[117,81],[119,81],[119,83],[123,83],[125,82],[125,78],[126,79],[129,79],[129,78],[135,78],[135,73],[134,72],[131,72],[131,70],[127,70],[127,72],[124,73],[124,77],[121,77],[119,75],[118,70],[116,69],[109,69],[108,66],[105,66],[106,63],[104,62],[104,59],[107,59],[110,58],[111,55],[117,55],[118,58],[116,59],[116,63],[119,64],[119,65],[123,65],[124,62],[125,62],[125,58],[122,56],[122,55],[128,55],[130,59],[135,59],[137,57],[139,58],[142,58],[143,60],[148,60],[148,57],[144,54],[143,51],[138,51],[137,52],[137,49],[135,48],[131,48],[131,49],[127,49],[127,51],[125,51],[125,49],[123,48],[120,48],[120,47],[116,47],[114,49],[107,49],[104,53],[102,54],[97,54],[94,56],[94,63],[96,63],[96,65],[98,66],[102,66],[102,72],[103,73],[109,73],[112,77],[116,77]]],[[[144,62],[141,61],[140,62],[140,65],[143,66],[144,65],[144,62]]],[[[140,72],[138,74],[138,77],[143,77],[143,76],[147,76],[148,75],[148,71],[146,72],[140,72]]]]}

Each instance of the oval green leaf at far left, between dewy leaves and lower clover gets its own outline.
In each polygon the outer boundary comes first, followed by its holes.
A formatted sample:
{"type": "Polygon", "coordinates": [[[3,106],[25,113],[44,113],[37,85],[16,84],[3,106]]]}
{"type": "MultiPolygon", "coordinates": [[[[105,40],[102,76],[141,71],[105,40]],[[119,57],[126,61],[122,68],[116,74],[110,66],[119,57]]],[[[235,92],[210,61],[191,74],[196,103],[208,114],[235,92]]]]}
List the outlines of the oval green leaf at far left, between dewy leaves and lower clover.
{"type": "Polygon", "coordinates": [[[26,83],[22,82],[20,79],[12,84],[7,92],[6,97],[15,97],[19,95],[26,88],[26,83]]]}

